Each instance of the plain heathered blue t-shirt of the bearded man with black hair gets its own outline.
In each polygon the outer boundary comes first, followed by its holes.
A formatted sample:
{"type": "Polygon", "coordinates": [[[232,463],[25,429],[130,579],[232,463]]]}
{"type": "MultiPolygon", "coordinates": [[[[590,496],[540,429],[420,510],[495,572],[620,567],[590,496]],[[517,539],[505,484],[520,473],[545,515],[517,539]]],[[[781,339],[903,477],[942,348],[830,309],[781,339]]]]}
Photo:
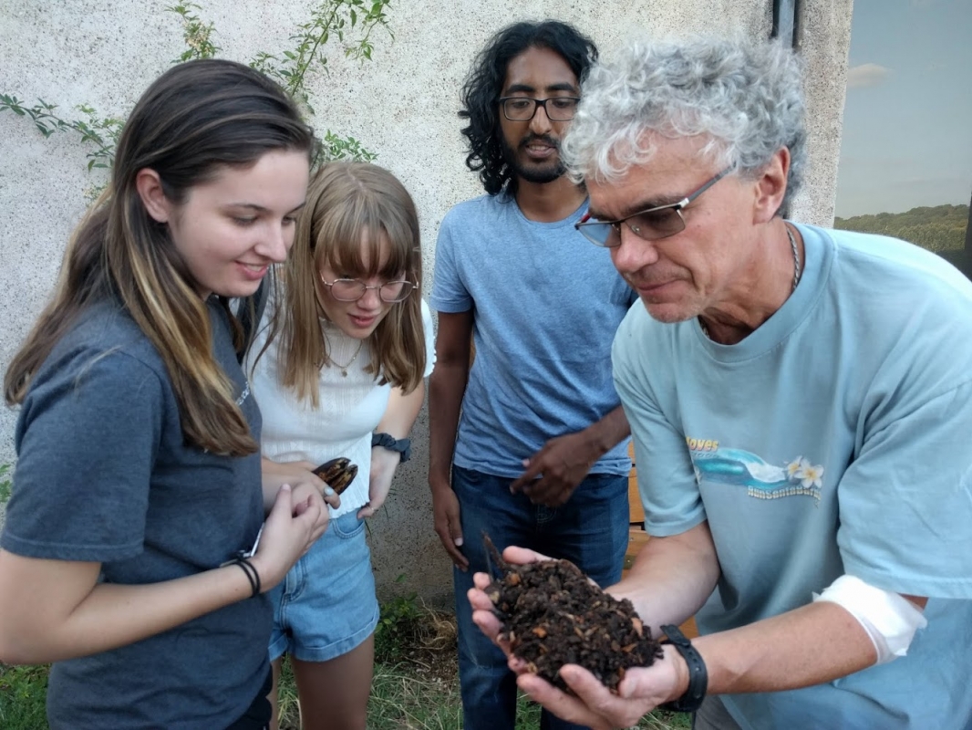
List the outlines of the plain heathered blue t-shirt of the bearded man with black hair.
{"type": "MultiPolygon", "coordinates": [[[[454,463],[501,477],[546,441],[580,431],[620,403],[610,344],[637,299],[610,253],[578,234],[587,203],[556,223],[529,220],[512,199],[483,196],[442,220],[430,301],[473,310],[475,360],[454,463]]],[[[631,469],[627,440],[593,473],[631,469]]]]}

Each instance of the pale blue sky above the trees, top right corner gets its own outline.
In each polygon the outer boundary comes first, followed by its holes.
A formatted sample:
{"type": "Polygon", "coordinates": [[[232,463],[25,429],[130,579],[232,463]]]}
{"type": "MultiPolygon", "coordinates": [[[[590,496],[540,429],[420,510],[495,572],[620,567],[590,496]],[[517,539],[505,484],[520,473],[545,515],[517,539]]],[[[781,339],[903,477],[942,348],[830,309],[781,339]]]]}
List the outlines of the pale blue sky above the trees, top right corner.
{"type": "Polygon", "coordinates": [[[837,215],[970,196],[972,0],[854,0],[837,215]]]}

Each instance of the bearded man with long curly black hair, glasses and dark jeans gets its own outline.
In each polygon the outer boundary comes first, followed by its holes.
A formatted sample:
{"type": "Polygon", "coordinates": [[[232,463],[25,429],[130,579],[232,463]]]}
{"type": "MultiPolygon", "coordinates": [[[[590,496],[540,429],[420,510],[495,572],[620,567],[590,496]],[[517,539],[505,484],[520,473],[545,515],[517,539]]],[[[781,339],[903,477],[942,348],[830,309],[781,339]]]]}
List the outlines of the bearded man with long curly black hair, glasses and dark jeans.
{"type": "MultiPolygon", "coordinates": [[[[610,344],[636,295],[608,250],[574,229],[587,192],[560,159],[596,56],[565,23],[519,22],[493,37],[463,90],[466,163],[488,195],[439,230],[429,483],[455,564],[467,730],[512,728],[516,714],[515,677],[467,600],[487,566],[482,531],[501,549],[571,560],[603,586],[628,544],[629,428],[610,344]]],[[[577,726],[544,713],[542,727],[577,726]]]]}

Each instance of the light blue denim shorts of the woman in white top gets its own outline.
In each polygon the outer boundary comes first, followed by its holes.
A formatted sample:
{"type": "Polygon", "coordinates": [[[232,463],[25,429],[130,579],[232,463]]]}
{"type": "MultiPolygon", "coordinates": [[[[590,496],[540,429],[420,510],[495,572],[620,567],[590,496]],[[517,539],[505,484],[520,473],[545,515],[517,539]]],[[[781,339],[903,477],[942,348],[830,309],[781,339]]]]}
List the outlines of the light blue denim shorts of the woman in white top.
{"type": "Polygon", "coordinates": [[[371,636],[378,624],[371,552],[355,512],[332,519],[327,531],[270,592],[270,659],[285,652],[326,662],[371,636]]]}

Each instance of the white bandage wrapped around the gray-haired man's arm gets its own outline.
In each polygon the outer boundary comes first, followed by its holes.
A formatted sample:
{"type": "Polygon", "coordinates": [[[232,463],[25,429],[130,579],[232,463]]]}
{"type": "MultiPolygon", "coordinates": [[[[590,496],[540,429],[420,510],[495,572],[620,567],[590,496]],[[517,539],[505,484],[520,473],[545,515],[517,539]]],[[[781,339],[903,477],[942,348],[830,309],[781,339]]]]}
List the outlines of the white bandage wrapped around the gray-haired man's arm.
{"type": "Polygon", "coordinates": [[[908,653],[915,632],[928,625],[914,603],[893,591],[884,591],[853,575],[842,575],[814,601],[843,606],[864,627],[878,652],[878,664],[908,653]]]}

